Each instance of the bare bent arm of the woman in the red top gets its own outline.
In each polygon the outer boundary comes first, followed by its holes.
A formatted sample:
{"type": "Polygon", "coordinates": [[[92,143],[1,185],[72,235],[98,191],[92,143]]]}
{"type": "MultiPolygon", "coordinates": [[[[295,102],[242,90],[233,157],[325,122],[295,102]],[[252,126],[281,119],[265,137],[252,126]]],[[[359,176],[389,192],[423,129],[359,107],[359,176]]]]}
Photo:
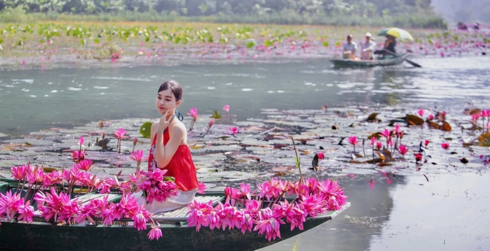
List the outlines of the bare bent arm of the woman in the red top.
{"type": "Polygon", "coordinates": [[[163,169],[168,165],[173,155],[177,151],[180,142],[182,142],[184,133],[182,132],[182,128],[176,125],[172,127],[171,131],[169,131],[169,135],[171,136],[166,145],[163,144],[163,132],[158,132],[156,135],[154,158],[156,160],[156,165],[160,169],[163,169]]]}

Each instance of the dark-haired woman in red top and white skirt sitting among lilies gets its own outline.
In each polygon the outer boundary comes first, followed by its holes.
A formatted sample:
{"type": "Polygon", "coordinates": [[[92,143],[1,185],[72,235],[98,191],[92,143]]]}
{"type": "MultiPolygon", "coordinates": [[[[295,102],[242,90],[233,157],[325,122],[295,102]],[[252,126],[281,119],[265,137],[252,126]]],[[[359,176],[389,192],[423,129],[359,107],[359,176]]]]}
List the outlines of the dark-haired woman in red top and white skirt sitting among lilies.
{"type": "Polygon", "coordinates": [[[155,106],[161,117],[151,125],[152,144],[148,157],[148,171],[159,168],[167,170],[165,176],[175,178],[179,188],[177,196],[171,196],[164,202],[145,202],[142,193],[135,193],[139,205],[145,205],[150,213],[172,211],[187,206],[194,200],[199,186],[196,168],[187,146],[187,130],[182,123],[183,116],[176,108],[182,103],[182,87],[175,80],[167,80],[160,85],[155,106]]]}

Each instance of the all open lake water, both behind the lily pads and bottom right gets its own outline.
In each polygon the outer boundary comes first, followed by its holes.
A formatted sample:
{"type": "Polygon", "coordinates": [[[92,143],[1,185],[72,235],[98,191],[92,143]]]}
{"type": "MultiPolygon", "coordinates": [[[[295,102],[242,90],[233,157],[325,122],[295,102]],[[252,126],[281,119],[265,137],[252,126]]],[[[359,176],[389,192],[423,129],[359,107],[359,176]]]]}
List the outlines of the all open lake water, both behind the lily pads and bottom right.
{"type": "MultiPolygon", "coordinates": [[[[184,88],[181,111],[196,107],[199,113],[223,113],[221,108],[229,104],[237,120],[263,116],[261,108],[318,109],[325,103],[329,107],[444,106],[488,99],[490,57],[416,61],[424,67],[334,69],[325,59],[312,59],[281,64],[3,71],[0,132],[26,134],[100,119],[156,117],[154,97],[168,78],[184,88]]],[[[340,178],[352,203],[350,209],[299,238],[263,250],[490,249],[488,170],[428,178],[430,182],[423,176],[397,176],[391,184],[372,175],[340,178]],[[370,184],[373,179],[376,183],[370,184]]]]}

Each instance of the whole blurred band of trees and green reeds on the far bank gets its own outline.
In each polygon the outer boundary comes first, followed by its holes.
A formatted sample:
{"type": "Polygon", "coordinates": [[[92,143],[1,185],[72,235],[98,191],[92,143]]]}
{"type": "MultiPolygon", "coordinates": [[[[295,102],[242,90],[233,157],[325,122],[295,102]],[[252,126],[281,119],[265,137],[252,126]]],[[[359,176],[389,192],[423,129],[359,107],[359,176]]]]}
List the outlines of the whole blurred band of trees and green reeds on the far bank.
{"type": "Polygon", "coordinates": [[[0,22],[197,21],[447,28],[431,0],[0,0],[0,22]]]}

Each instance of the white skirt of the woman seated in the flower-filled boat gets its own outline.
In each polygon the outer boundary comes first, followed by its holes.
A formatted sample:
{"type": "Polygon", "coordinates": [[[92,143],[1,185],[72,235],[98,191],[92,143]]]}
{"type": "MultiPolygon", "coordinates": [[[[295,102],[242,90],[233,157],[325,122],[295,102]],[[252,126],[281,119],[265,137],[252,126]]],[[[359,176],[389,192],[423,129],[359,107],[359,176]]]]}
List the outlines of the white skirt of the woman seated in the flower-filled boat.
{"type": "Polygon", "coordinates": [[[134,193],[133,195],[136,198],[139,206],[145,205],[146,211],[156,214],[160,212],[176,210],[187,206],[194,200],[196,192],[197,188],[187,192],[178,190],[177,196],[170,196],[164,202],[157,202],[153,200],[151,204],[146,204],[145,198],[143,197],[143,192],[139,191],[137,193],[134,193]]]}

